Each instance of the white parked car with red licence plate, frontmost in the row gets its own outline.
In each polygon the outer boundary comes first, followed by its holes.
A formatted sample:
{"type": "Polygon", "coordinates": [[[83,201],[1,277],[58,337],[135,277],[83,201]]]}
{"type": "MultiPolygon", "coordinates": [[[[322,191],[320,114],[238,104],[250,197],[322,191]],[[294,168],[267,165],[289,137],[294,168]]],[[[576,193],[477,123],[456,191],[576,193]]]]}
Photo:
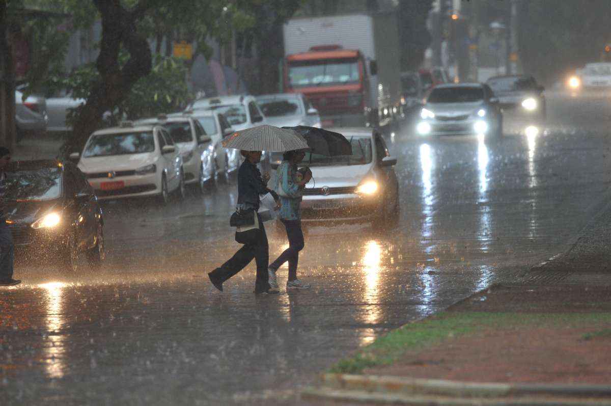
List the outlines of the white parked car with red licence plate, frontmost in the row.
{"type": "Polygon", "coordinates": [[[82,151],[78,168],[87,176],[98,199],[158,196],[167,204],[170,193],[185,196],[185,177],[180,150],[163,127],[134,125],[93,133],[82,151]]]}

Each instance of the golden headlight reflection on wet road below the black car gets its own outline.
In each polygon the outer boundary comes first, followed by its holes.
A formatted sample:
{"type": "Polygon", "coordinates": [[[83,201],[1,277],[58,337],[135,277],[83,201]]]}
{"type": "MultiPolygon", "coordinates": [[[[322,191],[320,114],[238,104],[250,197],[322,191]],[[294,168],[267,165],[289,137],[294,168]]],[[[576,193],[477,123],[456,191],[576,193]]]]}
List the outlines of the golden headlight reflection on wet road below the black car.
{"type": "Polygon", "coordinates": [[[49,282],[38,285],[46,291],[46,328],[48,330],[45,349],[45,369],[50,378],[64,376],[64,335],[59,330],[64,327],[65,320],[62,314],[64,298],[62,290],[67,286],[62,282],[49,282]]]}

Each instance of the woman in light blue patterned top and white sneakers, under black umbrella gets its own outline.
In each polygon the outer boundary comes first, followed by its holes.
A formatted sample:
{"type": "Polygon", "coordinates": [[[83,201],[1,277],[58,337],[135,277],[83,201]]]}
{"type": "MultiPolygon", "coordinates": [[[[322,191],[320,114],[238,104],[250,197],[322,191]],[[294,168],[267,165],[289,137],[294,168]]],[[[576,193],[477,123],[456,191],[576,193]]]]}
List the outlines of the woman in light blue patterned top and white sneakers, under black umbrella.
{"type": "Polygon", "coordinates": [[[312,179],[308,169],[305,175],[297,170],[297,164],[303,160],[303,151],[288,151],[282,157],[282,163],[276,169],[276,192],[280,196],[280,221],[287,229],[288,248],[269,265],[269,285],[278,287],[276,271],[288,261],[289,289],[309,289],[310,284],[297,278],[299,251],[304,248],[304,234],[301,231],[301,199],[305,184],[312,179]]]}

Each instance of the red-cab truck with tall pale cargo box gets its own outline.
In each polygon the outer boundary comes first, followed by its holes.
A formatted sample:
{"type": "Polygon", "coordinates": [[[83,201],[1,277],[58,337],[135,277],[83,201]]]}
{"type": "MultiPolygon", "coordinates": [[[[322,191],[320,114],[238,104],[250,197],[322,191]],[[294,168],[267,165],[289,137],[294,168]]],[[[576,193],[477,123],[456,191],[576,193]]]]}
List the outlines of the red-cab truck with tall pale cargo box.
{"type": "Polygon", "coordinates": [[[384,127],[400,116],[396,13],[291,18],[280,91],[302,93],[323,127],[384,127]]]}

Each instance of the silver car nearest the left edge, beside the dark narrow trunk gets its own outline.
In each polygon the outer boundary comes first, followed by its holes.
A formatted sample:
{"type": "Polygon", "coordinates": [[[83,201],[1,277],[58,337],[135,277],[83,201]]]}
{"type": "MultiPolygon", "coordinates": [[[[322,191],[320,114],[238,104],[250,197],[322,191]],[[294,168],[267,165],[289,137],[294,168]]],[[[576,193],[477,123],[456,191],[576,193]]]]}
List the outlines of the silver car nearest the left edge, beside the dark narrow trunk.
{"type": "Polygon", "coordinates": [[[45,97],[29,95],[23,100],[23,93],[15,90],[15,125],[17,127],[16,141],[21,141],[24,135],[43,134],[48,123],[45,97]]]}

